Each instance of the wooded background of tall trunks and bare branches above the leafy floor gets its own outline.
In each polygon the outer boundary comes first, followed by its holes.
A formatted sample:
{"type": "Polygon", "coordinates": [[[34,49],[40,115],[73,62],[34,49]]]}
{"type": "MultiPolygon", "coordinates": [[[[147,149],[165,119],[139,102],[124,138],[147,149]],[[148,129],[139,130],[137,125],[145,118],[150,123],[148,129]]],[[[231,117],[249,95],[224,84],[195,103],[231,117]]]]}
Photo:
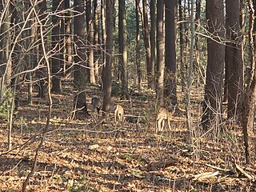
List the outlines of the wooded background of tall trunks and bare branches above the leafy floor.
{"type": "Polygon", "coordinates": [[[90,118],[89,86],[100,93],[94,96],[102,98],[103,118],[112,97],[150,93],[156,109],[178,104],[182,112],[184,106],[190,143],[194,129],[222,134],[241,128],[245,163],[253,163],[255,9],[254,0],[1,0],[0,115],[7,151],[20,98],[26,94],[29,105],[34,98],[49,101],[40,149],[52,94],[66,94],[69,84],[73,118],[90,118]],[[195,122],[191,101],[202,87],[202,115],[195,122]]]}

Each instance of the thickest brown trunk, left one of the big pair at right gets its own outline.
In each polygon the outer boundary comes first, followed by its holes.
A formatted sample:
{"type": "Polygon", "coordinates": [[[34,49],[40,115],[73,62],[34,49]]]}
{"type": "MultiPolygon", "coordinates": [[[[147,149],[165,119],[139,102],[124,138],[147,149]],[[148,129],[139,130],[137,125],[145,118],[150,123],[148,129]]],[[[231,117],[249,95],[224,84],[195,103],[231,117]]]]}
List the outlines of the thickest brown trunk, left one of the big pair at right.
{"type": "Polygon", "coordinates": [[[222,85],[225,60],[225,45],[219,42],[224,38],[224,5],[223,0],[206,1],[207,30],[207,68],[202,126],[209,129],[219,128],[222,121],[222,85]],[[218,29],[218,30],[216,30],[218,29]]]}

